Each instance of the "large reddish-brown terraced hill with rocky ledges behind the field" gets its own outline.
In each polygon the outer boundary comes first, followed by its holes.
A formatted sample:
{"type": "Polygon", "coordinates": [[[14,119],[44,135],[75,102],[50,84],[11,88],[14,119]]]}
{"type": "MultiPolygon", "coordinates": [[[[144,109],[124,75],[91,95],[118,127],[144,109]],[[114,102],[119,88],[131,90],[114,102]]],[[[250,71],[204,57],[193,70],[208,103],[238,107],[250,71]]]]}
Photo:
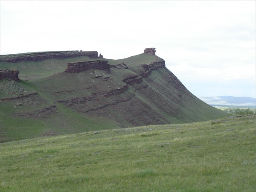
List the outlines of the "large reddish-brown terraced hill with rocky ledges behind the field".
{"type": "Polygon", "coordinates": [[[154,48],[119,60],[95,51],[1,55],[0,68],[18,70],[0,73],[1,142],[227,115],[190,93],[154,48]],[[12,74],[20,80],[3,78],[12,74]]]}

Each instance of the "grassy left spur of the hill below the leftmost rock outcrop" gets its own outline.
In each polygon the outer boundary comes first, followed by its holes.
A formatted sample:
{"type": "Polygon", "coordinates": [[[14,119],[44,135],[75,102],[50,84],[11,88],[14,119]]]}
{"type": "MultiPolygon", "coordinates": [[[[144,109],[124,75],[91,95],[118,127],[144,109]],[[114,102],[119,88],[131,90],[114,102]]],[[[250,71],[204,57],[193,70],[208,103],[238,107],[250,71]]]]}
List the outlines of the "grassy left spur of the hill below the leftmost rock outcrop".
{"type": "Polygon", "coordinates": [[[0,91],[0,142],[118,128],[111,120],[84,116],[54,103],[27,81],[1,80],[0,91]]]}

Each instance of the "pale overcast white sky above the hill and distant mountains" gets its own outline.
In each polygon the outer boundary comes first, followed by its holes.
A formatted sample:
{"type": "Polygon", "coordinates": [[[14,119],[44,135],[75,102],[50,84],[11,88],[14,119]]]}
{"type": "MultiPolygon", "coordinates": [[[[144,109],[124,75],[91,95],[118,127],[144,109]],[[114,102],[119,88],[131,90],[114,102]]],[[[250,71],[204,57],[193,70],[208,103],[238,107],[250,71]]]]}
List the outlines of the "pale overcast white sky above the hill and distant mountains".
{"type": "Polygon", "coordinates": [[[0,54],[156,55],[195,96],[256,97],[255,0],[0,0],[0,54]]]}

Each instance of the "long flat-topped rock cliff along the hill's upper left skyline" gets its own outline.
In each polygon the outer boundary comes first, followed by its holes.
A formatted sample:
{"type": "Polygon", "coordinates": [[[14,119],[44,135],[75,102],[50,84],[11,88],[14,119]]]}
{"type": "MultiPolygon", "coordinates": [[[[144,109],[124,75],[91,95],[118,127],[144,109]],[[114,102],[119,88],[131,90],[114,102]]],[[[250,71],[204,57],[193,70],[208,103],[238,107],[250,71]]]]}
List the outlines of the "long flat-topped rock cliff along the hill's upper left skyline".
{"type": "Polygon", "coordinates": [[[0,62],[17,63],[20,61],[42,61],[49,58],[73,58],[87,56],[90,58],[99,58],[97,51],[48,51],[32,52],[11,55],[0,55],[0,62]]]}

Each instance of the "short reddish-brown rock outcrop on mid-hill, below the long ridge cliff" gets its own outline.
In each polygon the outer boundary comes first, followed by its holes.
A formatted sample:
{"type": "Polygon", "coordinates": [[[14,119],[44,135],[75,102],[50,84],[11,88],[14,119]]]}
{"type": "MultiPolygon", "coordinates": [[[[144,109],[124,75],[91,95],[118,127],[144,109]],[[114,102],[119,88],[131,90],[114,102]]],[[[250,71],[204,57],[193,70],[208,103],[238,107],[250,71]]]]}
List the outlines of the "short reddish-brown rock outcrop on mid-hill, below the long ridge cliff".
{"type": "Polygon", "coordinates": [[[98,69],[110,71],[110,65],[106,60],[82,61],[76,63],[68,63],[66,73],[79,73],[81,71],[98,69]]]}

